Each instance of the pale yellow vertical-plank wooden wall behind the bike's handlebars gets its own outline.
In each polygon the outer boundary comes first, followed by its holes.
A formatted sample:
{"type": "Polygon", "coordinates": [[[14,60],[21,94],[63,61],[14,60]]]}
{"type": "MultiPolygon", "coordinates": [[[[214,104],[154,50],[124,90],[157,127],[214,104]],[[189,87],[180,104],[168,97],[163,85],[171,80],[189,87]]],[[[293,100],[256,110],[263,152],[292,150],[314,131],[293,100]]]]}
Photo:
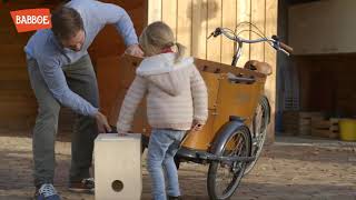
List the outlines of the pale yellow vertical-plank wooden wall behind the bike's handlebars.
{"type": "MultiPolygon", "coordinates": [[[[277,2],[277,0],[149,0],[148,22],[161,20],[172,27],[177,41],[188,48],[188,54],[229,64],[234,53],[233,42],[222,37],[210,40],[206,38],[217,27],[235,30],[235,27],[244,21],[257,26],[263,34],[276,34],[277,2]]],[[[250,26],[241,24],[239,28],[239,30],[248,30],[250,26]]],[[[240,36],[247,39],[258,37],[248,31],[240,36]]],[[[244,66],[249,59],[266,61],[276,72],[276,52],[269,46],[245,44],[238,66],[244,66]]],[[[269,77],[266,83],[266,93],[273,107],[273,114],[276,98],[275,74],[269,77]]],[[[270,128],[273,133],[274,120],[270,128]]]]}

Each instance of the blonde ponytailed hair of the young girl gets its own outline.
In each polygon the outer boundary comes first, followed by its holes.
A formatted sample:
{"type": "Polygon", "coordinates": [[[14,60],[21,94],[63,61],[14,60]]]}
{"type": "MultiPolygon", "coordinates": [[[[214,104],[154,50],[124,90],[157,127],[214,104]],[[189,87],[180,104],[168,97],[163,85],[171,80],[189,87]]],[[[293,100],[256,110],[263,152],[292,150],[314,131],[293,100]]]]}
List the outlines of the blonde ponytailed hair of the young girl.
{"type": "Polygon", "coordinates": [[[177,47],[179,61],[185,54],[186,47],[175,42],[172,30],[164,22],[156,21],[146,27],[140,36],[139,43],[147,56],[161,53],[164,49],[177,47]]]}

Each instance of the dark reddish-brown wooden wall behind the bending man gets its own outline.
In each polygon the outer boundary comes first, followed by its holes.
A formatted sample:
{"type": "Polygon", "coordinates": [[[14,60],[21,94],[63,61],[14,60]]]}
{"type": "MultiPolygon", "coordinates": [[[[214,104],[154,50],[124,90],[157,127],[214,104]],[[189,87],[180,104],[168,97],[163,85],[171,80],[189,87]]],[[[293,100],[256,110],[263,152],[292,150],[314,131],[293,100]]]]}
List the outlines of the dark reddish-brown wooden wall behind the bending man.
{"type": "MultiPolygon", "coordinates": [[[[18,33],[12,22],[10,11],[31,8],[55,8],[65,0],[16,0],[4,3],[0,1],[0,131],[13,132],[30,131],[37,114],[37,102],[32,93],[26,64],[23,47],[33,33],[18,33]]],[[[117,3],[130,14],[136,30],[141,32],[147,23],[147,2],[130,0],[102,0],[117,3]]],[[[108,26],[99,33],[88,50],[92,62],[102,57],[120,56],[125,50],[123,42],[112,26],[108,26]]],[[[118,73],[119,66],[103,66],[97,70],[101,103],[110,106],[112,87],[116,80],[108,80],[108,74],[118,73]],[[103,97],[105,96],[105,97],[103,97]]],[[[103,108],[107,112],[107,108],[103,108]]],[[[59,129],[69,131],[72,126],[73,113],[69,109],[62,109],[59,129]]]]}

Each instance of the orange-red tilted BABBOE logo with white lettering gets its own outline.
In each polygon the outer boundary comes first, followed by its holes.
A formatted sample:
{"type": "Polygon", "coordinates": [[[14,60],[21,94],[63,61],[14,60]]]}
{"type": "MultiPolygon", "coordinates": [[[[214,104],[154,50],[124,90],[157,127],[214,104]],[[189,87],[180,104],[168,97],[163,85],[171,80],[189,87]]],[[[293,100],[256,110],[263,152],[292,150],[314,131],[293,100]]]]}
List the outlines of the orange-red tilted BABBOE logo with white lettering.
{"type": "Polygon", "coordinates": [[[52,27],[49,9],[17,10],[10,13],[18,32],[50,29],[52,27]]]}

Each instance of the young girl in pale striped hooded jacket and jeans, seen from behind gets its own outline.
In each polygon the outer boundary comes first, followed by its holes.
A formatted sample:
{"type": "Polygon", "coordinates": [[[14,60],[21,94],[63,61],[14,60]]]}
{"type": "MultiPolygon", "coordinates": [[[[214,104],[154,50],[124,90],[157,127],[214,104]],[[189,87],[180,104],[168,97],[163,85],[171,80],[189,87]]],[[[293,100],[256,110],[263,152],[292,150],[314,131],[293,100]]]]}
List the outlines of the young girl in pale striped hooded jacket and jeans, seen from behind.
{"type": "Polygon", "coordinates": [[[186,131],[200,130],[208,118],[207,88],[194,59],[182,57],[185,47],[175,42],[166,23],[149,24],[139,43],[147,58],[136,70],[117,128],[119,133],[131,130],[135,111],[147,93],[147,116],[152,127],[147,169],[152,180],[152,196],[155,200],[178,199],[180,191],[174,157],[186,131]]]}

